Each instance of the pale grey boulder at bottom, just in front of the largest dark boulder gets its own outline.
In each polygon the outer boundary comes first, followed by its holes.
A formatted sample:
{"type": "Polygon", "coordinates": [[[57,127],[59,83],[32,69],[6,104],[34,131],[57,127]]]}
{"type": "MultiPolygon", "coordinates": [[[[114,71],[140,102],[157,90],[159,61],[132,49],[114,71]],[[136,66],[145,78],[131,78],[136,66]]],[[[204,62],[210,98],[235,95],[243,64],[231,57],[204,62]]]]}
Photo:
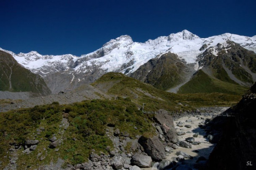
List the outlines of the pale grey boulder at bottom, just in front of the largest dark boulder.
{"type": "Polygon", "coordinates": [[[150,156],[136,154],[133,156],[131,162],[139,167],[151,167],[152,159],[150,156]]]}

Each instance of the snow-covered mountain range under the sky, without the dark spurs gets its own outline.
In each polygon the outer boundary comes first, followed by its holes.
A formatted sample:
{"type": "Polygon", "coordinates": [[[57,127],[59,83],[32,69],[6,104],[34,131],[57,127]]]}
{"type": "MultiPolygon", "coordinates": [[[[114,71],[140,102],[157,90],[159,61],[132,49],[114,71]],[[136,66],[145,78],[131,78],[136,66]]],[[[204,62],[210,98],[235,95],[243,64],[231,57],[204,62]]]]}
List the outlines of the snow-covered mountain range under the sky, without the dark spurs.
{"type": "Polygon", "coordinates": [[[154,40],[149,39],[144,43],[133,42],[128,35],[120,36],[110,40],[100,49],[81,57],[71,54],[41,55],[37,52],[14,54],[0,50],[12,54],[19,64],[44,77],[52,92],[56,93],[60,90],[73,89],[80,83],[93,82],[106,72],[122,72],[129,75],[150,59],[169,52],[177,54],[179,59],[187,64],[194,64],[195,70],[198,70],[198,57],[206,50],[217,56],[218,49],[229,49],[230,44],[227,44],[227,41],[233,41],[245,49],[256,52],[256,36],[225,33],[200,38],[187,30],[169,36],[160,36],[154,40]],[[60,82],[58,79],[54,83],[49,80],[56,77],[56,74],[62,74],[62,77],[65,76],[65,80],[68,81],[62,88],[59,87],[59,83],[63,84],[62,80],[60,82]]]}

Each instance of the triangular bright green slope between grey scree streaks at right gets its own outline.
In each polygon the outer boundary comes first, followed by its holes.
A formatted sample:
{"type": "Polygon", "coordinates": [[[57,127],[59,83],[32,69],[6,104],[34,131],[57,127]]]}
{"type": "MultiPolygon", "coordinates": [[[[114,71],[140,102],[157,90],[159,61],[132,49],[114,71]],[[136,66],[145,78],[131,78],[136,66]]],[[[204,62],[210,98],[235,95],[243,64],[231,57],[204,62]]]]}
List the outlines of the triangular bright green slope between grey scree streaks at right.
{"type": "MultiPolygon", "coordinates": [[[[225,70],[224,70],[225,71],[225,70]]],[[[248,90],[240,85],[220,81],[209,77],[203,70],[199,70],[193,78],[183,85],[178,93],[227,93],[242,95],[248,90]]]]}

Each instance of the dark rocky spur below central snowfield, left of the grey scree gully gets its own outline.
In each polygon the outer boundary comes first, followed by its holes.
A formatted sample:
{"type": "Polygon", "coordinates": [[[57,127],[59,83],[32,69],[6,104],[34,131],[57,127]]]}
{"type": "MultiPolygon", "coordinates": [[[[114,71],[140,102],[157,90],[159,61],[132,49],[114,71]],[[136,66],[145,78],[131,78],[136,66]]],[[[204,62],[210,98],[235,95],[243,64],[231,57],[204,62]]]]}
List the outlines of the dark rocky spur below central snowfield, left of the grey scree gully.
{"type": "Polygon", "coordinates": [[[169,52],[150,59],[130,76],[156,88],[167,90],[189,80],[195,72],[193,66],[180,60],[177,54],[169,52]]]}

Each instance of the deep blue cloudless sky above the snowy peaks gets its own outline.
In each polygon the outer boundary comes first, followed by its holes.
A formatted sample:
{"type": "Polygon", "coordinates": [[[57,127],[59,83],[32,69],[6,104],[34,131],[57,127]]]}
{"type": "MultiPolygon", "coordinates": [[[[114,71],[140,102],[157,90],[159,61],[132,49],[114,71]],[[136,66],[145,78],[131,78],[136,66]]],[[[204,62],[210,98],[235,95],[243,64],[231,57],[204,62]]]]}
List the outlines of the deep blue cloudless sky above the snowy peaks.
{"type": "Polygon", "coordinates": [[[222,1],[0,0],[0,47],[80,56],[121,35],[137,42],[184,29],[201,38],[256,35],[256,1],[222,1]]]}

